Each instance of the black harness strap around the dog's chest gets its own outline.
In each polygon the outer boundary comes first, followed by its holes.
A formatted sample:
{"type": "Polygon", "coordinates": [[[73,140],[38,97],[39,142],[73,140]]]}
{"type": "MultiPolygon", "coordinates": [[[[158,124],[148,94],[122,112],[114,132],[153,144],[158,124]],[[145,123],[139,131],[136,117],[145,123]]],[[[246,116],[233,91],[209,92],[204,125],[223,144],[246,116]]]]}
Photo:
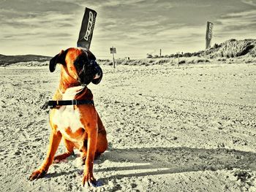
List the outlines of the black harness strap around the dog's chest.
{"type": "Polygon", "coordinates": [[[93,100],[57,100],[57,101],[48,101],[44,104],[44,106],[42,107],[42,109],[47,109],[48,107],[50,107],[50,109],[53,109],[55,107],[60,107],[63,105],[78,105],[78,104],[91,104],[94,105],[94,101],[93,100]]]}

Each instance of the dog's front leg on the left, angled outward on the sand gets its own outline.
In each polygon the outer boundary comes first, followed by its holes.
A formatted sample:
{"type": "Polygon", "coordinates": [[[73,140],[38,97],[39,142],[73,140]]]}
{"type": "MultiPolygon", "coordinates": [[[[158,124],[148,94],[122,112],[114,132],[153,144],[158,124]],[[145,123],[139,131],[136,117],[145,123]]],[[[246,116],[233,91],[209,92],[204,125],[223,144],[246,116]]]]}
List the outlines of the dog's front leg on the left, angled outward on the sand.
{"type": "Polygon", "coordinates": [[[53,163],[53,158],[56,153],[56,150],[59,147],[59,143],[61,142],[61,133],[56,131],[51,131],[50,134],[50,145],[48,148],[48,153],[46,155],[45,161],[29,176],[29,180],[35,180],[41,177],[44,177],[46,172],[49,169],[50,164],[53,163]]]}

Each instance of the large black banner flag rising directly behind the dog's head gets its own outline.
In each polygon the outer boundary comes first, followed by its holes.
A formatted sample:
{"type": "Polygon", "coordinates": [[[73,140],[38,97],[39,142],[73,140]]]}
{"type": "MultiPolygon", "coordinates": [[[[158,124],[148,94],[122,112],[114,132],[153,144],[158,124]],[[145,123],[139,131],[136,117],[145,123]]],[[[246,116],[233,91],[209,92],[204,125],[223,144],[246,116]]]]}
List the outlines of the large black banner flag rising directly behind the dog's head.
{"type": "Polygon", "coordinates": [[[83,15],[82,25],[78,37],[78,47],[89,49],[91,45],[92,34],[94,32],[94,25],[97,12],[86,7],[83,15]]]}

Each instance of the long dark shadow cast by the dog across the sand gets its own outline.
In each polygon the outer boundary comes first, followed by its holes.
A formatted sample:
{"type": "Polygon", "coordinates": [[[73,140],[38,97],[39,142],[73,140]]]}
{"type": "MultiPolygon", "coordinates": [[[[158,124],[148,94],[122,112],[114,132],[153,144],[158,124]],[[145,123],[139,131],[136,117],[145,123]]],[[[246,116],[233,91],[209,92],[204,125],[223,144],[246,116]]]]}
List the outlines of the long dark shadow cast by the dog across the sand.
{"type": "Polygon", "coordinates": [[[146,176],[156,174],[172,174],[180,172],[196,172],[220,169],[253,169],[256,170],[256,154],[240,150],[198,149],[191,147],[150,147],[130,149],[110,149],[97,161],[129,162],[135,166],[115,166],[94,169],[94,172],[128,171],[129,174],[112,175],[105,179],[146,176]],[[144,169],[144,172],[136,170],[144,169]],[[145,172],[145,169],[148,171],[145,172]]]}

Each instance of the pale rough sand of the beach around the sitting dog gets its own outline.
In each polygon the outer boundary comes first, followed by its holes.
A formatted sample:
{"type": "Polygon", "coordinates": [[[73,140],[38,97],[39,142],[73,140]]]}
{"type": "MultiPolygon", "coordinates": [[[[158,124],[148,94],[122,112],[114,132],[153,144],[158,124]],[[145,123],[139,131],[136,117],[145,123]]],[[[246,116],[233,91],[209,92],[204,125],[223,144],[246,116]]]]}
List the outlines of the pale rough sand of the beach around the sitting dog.
{"type": "Polygon", "coordinates": [[[255,64],[102,69],[89,88],[110,144],[94,162],[99,186],[88,189],[77,150],[27,180],[48,148],[41,107],[59,70],[0,68],[0,191],[256,191],[255,64]]]}

